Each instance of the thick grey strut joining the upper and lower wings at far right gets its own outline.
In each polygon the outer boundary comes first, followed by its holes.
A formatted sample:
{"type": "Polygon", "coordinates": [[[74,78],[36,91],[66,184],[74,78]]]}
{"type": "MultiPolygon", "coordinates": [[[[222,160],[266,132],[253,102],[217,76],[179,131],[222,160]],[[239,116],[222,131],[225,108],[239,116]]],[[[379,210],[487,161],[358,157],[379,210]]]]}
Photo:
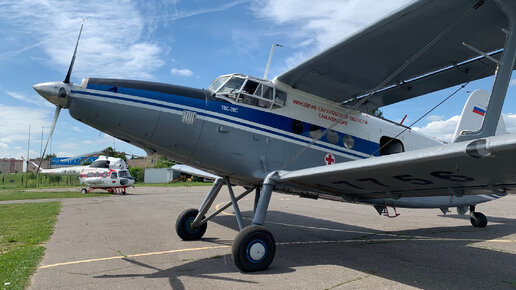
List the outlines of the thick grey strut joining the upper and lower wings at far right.
{"type": "MultiPolygon", "coordinates": [[[[503,30],[507,35],[502,58],[496,69],[495,81],[491,90],[491,97],[487,105],[484,122],[480,130],[475,132],[463,132],[457,136],[454,143],[494,136],[498,126],[498,120],[502,113],[502,107],[511,80],[514,61],[516,60],[516,1],[495,0],[509,20],[509,31],[503,30]]],[[[471,46],[468,46],[472,48],[471,46]]]]}

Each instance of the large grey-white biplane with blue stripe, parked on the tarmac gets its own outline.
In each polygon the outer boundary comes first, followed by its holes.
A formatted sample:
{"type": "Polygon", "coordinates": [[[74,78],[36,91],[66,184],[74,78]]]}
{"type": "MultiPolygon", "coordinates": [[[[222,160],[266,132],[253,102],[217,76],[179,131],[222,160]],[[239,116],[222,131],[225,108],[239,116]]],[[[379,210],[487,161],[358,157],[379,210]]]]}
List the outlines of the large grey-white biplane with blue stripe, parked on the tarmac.
{"type": "MultiPolygon", "coordinates": [[[[82,30],[82,28],[81,28],[82,30]]],[[[80,34],[79,34],[80,36],[80,34]]],[[[77,40],[78,43],[78,40],[77,40]]],[[[272,81],[223,75],[207,89],[135,80],[63,82],[34,89],[70,115],[118,139],[218,176],[176,231],[201,239],[214,199],[229,188],[240,232],[232,256],[244,272],[267,269],[274,237],[263,225],[273,191],[388,207],[476,211],[516,187],[516,134],[501,110],[516,58],[516,1],[420,0],[272,81]],[[450,144],[371,110],[495,75],[475,91],[450,144]],[[232,185],[245,192],[235,197],[232,185]],[[252,224],[237,201],[255,192],[252,224]]]]}

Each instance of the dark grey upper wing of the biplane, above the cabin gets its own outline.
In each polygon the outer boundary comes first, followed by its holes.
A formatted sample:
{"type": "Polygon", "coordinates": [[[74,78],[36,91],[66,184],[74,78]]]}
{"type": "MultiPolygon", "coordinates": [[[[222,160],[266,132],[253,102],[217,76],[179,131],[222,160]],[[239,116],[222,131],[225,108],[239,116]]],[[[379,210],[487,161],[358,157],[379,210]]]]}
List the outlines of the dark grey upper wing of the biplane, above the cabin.
{"type": "Polygon", "coordinates": [[[494,74],[494,63],[478,58],[462,43],[499,59],[498,50],[503,48],[506,36],[501,28],[508,26],[508,20],[495,1],[421,0],[280,75],[278,80],[335,102],[352,101],[349,104],[353,105],[450,26],[438,42],[359,108],[378,108],[494,74]]]}

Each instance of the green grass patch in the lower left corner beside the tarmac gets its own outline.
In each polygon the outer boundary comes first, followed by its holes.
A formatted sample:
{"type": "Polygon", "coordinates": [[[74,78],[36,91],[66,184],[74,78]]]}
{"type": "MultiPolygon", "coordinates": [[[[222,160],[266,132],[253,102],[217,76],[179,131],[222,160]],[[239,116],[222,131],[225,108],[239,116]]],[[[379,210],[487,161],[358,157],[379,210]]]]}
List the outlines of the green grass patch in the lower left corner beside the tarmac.
{"type": "Polygon", "coordinates": [[[0,286],[25,289],[53,232],[59,202],[0,205],[0,286]],[[8,286],[5,286],[6,283],[8,286]]]}

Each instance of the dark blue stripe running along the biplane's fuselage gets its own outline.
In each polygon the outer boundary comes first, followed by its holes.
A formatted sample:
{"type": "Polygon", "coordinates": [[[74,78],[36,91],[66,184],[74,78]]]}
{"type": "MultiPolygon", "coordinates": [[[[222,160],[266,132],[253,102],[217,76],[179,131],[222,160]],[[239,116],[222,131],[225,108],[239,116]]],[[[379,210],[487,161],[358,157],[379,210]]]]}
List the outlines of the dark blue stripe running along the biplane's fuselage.
{"type": "MultiPolygon", "coordinates": [[[[88,89],[92,89],[92,90],[109,91],[109,88],[110,87],[108,87],[108,86],[102,86],[102,85],[94,85],[91,87],[90,87],[90,85],[88,85],[88,89]]],[[[294,120],[292,118],[280,116],[277,114],[272,114],[269,112],[263,112],[261,110],[255,110],[255,109],[251,109],[251,108],[247,108],[247,107],[243,107],[243,106],[239,106],[239,105],[231,104],[231,103],[227,103],[227,102],[209,101],[209,100],[206,101],[206,100],[202,100],[202,99],[195,99],[195,98],[190,98],[190,97],[185,97],[185,96],[170,95],[170,94],[165,94],[165,93],[138,90],[138,89],[127,89],[127,88],[122,88],[122,87],[118,87],[118,89],[117,89],[118,94],[126,94],[126,95],[135,96],[135,97],[145,98],[145,99],[149,99],[149,101],[135,100],[132,98],[106,95],[106,94],[102,94],[102,93],[93,93],[93,92],[88,92],[88,91],[72,91],[72,93],[91,95],[91,96],[114,99],[114,100],[135,102],[135,103],[140,103],[140,104],[145,104],[145,105],[150,105],[150,106],[172,109],[172,110],[179,111],[179,112],[182,112],[185,109],[179,108],[179,107],[176,107],[173,105],[165,105],[165,104],[152,102],[150,100],[162,101],[162,102],[166,102],[169,104],[184,105],[184,106],[192,107],[192,108],[199,110],[199,111],[197,111],[197,113],[201,116],[215,118],[215,119],[222,120],[222,121],[229,122],[229,123],[234,123],[237,125],[241,125],[241,126],[255,129],[255,130],[267,132],[267,133],[270,133],[273,135],[278,135],[278,136],[281,136],[281,137],[284,137],[287,139],[291,139],[291,140],[295,140],[298,142],[302,142],[305,144],[309,143],[309,141],[307,141],[307,140],[303,140],[301,138],[296,138],[291,135],[283,134],[279,131],[273,131],[273,130],[265,129],[263,127],[258,127],[258,126],[254,126],[254,125],[251,125],[248,123],[235,121],[232,119],[228,119],[228,118],[224,118],[224,117],[221,117],[218,115],[211,114],[211,113],[219,113],[219,114],[229,115],[229,116],[232,116],[234,118],[239,118],[239,119],[241,119],[242,115],[244,115],[247,118],[249,118],[250,121],[264,124],[265,126],[273,127],[278,130],[287,131],[287,132],[291,130],[291,128],[290,128],[291,123],[294,120]],[[236,108],[237,112],[224,111],[222,109],[222,106],[230,106],[230,107],[236,108]]],[[[311,124],[309,124],[309,123],[303,123],[303,125],[305,128],[308,128],[309,126],[311,126],[311,124]]],[[[324,130],[325,128],[320,128],[320,129],[324,130]]],[[[311,138],[308,130],[304,130],[303,133],[300,135],[311,138]]],[[[339,133],[339,135],[345,135],[345,134],[339,133]]],[[[340,138],[340,137],[342,137],[342,136],[339,136],[339,140],[342,140],[342,138],[340,138]]],[[[358,151],[363,154],[371,154],[371,153],[377,151],[377,149],[379,148],[378,143],[374,143],[369,140],[361,139],[361,138],[354,137],[354,136],[353,136],[353,138],[355,140],[355,146],[353,148],[354,151],[358,151]]],[[[321,141],[327,142],[327,140],[325,140],[325,139],[326,139],[326,136],[321,138],[321,141]]],[[[331,150],[331,151],[336,151],[336,152],[342,153],[342,154],[347,154],[347,155],[351,155],[351,156],[358,157],[358,158],[365,158],[363,155],[359,155],[359,154],[349,152],[349,151],[339,150],[337,148],[333,148],[333,147],[324,145],[324,144],[322,144],[322,142],[316,143],[316,145],[319,147],[323,147],[325,149],[331,150]]],[[[375,155],[378,155],[378,153],[376,153],[375,155]]]]}

